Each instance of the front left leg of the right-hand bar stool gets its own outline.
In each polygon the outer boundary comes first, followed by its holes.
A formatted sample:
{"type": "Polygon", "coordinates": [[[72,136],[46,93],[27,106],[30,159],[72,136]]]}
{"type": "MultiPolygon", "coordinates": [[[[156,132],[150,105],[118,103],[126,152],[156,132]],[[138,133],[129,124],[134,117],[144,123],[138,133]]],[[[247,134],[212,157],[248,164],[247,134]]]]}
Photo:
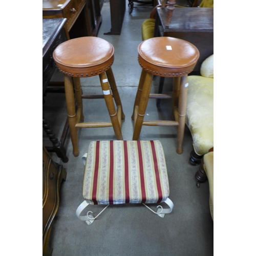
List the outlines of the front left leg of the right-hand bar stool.
{"type": "Polygon", "coordinates": [[[135,120],[133,140],[138,140],[140,137],[140,131],[143,124],[148,97],[150,96],[152,80],[153,80],[153,74],[146,73],[145,82],[144,82],[140,103],[139,103],[138,115],[135,120]]]}

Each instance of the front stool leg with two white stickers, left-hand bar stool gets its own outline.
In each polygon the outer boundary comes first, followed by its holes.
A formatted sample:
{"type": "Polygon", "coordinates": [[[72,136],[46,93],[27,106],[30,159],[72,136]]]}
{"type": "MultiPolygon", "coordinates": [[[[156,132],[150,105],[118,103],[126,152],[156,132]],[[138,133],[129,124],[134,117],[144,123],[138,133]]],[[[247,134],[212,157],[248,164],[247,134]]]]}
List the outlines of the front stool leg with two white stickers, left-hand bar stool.
{"type": "Polygon", "coordinates": [[[110,114],[110,119],[113,125],[116,138],[118,140],[122,140],[123,136],[121,132],[121,124],[118,121],[117,112],[115,109],[115,104],[113,101],[112,94],[110,92],[110,86],[109,86],[108,78],[106,77],[106,73],[104,72],[99,74],[99,78],[100,78],[101,88],[104,94],[104,99],[106,102],[106,107],[108,108],[108,111],[110,114]]]}

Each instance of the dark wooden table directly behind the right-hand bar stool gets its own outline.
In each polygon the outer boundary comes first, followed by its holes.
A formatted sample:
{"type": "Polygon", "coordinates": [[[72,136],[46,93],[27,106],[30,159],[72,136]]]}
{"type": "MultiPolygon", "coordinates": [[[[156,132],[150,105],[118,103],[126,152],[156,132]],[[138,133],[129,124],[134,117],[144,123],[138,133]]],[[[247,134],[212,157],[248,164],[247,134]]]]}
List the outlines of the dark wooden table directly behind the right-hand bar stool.
{"type": "Polygon", "coordinates": [[[214,8],[175,8],[166,27],[166,9],[157,9],[155,36],[170,36],[191,42],[200,52],[194,72],[214,53],[214,8]]]}

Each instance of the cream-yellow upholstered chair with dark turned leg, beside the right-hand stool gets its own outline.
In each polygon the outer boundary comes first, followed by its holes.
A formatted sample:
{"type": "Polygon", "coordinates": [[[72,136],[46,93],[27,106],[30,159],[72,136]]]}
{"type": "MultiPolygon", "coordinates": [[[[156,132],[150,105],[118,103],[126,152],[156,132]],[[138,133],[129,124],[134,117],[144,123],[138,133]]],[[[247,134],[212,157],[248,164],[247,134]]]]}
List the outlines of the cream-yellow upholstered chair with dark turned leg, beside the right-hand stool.
{"type": "Polygon", "coordinates": [[[190,163],[200,164],[214,146],[214,55],[201,65],[201,76],[188,76],[186,125],[193,139],[190,163]]]}

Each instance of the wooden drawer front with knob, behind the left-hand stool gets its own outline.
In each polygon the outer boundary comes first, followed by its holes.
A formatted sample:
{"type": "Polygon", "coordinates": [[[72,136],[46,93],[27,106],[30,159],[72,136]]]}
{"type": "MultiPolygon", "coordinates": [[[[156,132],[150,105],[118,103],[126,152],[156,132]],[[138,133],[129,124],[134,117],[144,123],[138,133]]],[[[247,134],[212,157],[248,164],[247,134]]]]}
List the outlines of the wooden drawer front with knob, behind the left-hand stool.
{"type": "Polygon", "coordinates": [[[63,17],[68,19],[66,22],[68,31],[73,26],[85,3],[86,0],[71,0],[70,3],[66,6],[65,10],[63,10],[63,17]]]}

